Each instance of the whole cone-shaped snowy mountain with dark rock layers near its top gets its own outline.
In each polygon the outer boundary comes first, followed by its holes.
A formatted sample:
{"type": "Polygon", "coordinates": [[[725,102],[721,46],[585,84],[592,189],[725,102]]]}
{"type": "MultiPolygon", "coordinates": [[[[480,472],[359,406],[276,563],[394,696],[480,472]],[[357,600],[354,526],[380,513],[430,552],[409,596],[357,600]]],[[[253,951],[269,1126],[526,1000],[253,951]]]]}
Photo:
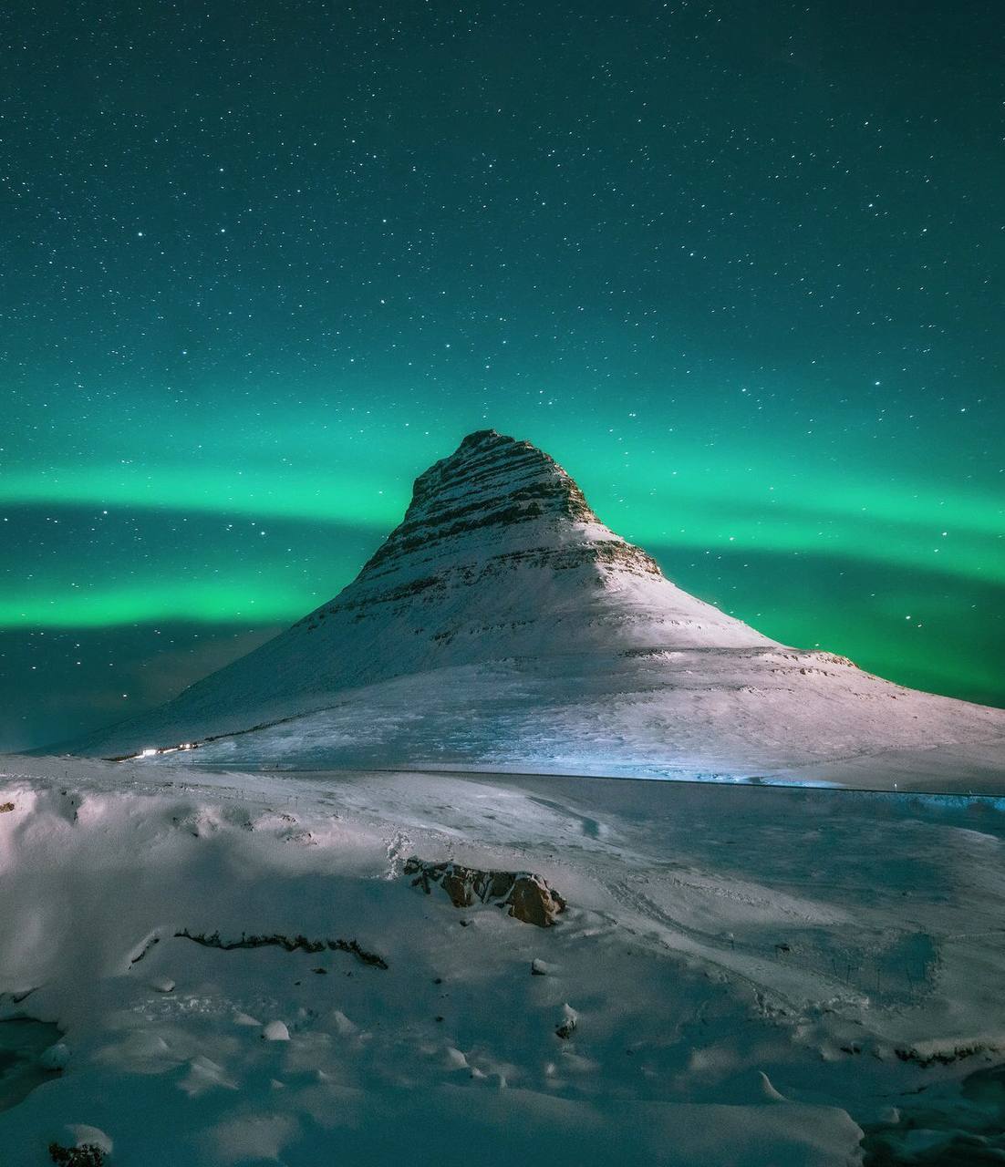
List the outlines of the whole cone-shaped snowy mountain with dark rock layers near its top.
{"type": "Polygon", "coordinates": [[[334,600],[74,752],[180,742],[203,764],[1005,787],[1005,711],[769,640],[671,584],[547,454],[491,429],[419,476],[334,600]]]}

